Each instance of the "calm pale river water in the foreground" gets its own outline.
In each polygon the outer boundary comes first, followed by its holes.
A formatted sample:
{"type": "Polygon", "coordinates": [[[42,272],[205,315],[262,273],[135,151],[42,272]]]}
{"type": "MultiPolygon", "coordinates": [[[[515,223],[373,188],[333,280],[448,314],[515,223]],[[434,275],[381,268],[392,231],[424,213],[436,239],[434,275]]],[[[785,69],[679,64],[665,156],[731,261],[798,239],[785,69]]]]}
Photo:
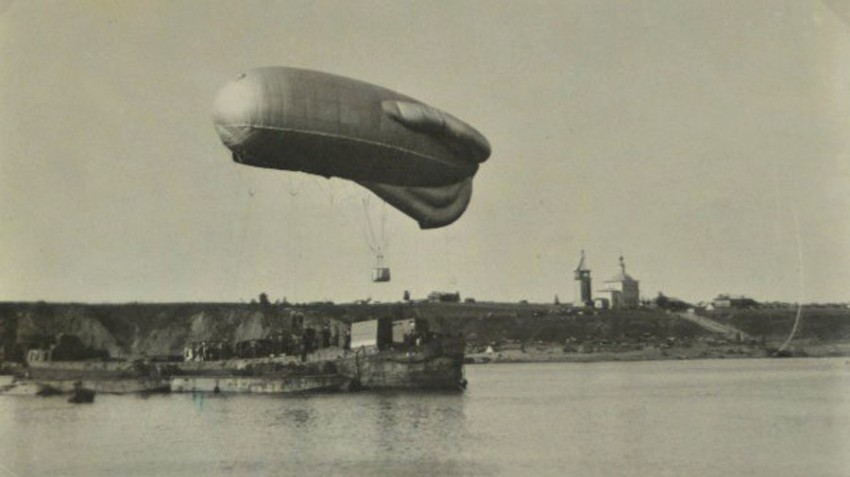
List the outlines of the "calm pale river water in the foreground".
{"type": "Polygon", "coordinates": [[[0,397],[0,476],[848,476],[850,361],[467,366],[463,394],[0,397]]]}

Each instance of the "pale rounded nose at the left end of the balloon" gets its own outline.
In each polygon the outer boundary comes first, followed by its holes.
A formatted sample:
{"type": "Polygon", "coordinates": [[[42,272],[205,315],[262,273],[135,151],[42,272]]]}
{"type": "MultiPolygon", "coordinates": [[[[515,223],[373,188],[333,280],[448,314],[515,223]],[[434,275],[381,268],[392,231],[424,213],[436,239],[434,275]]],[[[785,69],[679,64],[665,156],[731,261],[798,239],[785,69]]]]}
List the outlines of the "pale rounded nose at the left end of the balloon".
{"type": "Polygon", "coordinates": [[[257,86],[243,73],[216,95],[213,122],[225,146],[240,145],[251,132],[250,124],[261,100],[257,86]]]}

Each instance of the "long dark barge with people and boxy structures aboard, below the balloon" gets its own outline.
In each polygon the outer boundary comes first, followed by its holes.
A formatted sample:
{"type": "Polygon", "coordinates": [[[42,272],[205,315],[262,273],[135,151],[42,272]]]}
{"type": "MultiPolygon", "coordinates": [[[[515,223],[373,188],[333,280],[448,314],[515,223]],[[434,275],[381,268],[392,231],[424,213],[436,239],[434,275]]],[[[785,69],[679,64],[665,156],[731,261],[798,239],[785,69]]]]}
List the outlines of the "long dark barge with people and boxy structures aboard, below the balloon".
{"type": "MultiPolygon", "coordinates": [[[[187,342],[182,361],[30,360],[0,394],[221,392],[287,394],[462,390],[465,342],[420,319],[323,320],[239,342],[187,342]]],[[[49,356],[33,350],[33,357],[49,356]]]]}

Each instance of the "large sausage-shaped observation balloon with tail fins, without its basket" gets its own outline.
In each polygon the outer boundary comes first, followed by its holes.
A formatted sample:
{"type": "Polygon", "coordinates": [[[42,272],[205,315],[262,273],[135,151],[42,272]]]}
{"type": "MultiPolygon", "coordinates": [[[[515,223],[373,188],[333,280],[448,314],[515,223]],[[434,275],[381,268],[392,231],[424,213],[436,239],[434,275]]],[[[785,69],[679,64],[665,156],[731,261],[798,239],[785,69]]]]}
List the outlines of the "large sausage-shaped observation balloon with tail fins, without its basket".
{"type": "Polygon", "coordinates": [[[213,119],[234,161],[355,181],[426,229],[463,214],[490,156],[487,139],[448,113],[296,68],[240,75],[218,93],[213,119]]]}

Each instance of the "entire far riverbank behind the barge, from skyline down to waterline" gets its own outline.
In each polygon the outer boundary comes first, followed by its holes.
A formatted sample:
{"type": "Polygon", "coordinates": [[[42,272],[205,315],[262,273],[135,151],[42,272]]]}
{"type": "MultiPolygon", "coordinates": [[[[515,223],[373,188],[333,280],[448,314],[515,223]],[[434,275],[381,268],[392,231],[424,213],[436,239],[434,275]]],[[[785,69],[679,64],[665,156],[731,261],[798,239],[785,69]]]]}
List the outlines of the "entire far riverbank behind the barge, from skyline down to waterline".
{"type": "MultiPolygon", "coordinates": [[[[672,312],[490,302],[0,303],[0,361],[21,363],[30,349],[73,342],[86,358],[169,362],[182,359],[187,343],[268,339],[296,318],[321,325],[382,317],[426,319],[462,336],[472,362],[757,358],[780,347],[796,315],[791,305],[672,312]]],[[[804,306],[791,351],[850,355],[850,309],[804,306]]]]}

